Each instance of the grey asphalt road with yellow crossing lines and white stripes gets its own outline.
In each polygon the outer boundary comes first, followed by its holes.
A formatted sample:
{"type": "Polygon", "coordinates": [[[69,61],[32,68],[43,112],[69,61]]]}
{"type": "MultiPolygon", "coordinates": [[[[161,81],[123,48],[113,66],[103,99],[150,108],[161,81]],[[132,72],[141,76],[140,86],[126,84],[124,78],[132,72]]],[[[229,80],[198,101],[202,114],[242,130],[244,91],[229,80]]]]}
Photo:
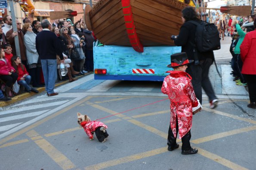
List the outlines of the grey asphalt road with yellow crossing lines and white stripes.
{"type": "Polygon", "coordinates": [[[203,110],[193,117],[197,154],[167,150],[170,101],[161,82],[87,75],[56,88],[59,95],[43,92],[1,110],[0,170],[255,170],[256,112],[246,107],[247,90],[232,81],[224,54],[216,54],[221,77],[214,65],[210,72],[219,105],[211,110],[204,95],[203,110]],[[77,112],[107,116],[105,143],[89,140],[77,112]]]}

